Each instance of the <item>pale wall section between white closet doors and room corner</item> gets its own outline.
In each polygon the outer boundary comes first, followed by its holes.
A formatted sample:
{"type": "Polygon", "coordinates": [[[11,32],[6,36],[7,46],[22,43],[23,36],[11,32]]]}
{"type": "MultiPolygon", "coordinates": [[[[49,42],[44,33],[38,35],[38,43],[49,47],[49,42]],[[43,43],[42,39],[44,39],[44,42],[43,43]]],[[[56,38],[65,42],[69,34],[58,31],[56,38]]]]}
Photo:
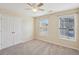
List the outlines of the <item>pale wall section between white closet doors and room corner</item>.
{"type": "Polygon", "coordinates": [[[33,39],[33,19],[32,17],[22,17],[22,38],[25,41],[33,39]]]}

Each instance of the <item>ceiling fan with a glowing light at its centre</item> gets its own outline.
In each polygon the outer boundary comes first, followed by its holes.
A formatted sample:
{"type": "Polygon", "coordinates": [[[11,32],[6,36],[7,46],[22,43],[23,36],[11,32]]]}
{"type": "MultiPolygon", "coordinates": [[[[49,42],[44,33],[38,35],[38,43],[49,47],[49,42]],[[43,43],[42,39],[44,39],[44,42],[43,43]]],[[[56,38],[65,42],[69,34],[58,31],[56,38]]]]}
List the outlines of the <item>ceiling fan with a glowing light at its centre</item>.
{"type": "Polygon", "coordinates": [[[41,9],[44,5],[43,3],[27,3],[27,5],[28,8],[25,8],[25,10],[32,10],[33,12],[44,11],[44,9],[41,9]]]}

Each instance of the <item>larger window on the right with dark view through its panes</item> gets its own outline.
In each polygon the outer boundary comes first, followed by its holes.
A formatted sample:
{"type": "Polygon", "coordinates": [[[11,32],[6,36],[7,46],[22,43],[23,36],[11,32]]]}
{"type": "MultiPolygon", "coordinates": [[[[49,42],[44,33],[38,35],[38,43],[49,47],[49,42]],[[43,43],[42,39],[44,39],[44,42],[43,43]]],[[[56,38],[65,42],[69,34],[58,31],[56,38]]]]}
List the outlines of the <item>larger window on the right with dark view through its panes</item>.
{"type": "Polygon", "coordinates": [[[62,39],[74,40],[76,37],[75,15],[59,17],[59,33],[62,39]]]}

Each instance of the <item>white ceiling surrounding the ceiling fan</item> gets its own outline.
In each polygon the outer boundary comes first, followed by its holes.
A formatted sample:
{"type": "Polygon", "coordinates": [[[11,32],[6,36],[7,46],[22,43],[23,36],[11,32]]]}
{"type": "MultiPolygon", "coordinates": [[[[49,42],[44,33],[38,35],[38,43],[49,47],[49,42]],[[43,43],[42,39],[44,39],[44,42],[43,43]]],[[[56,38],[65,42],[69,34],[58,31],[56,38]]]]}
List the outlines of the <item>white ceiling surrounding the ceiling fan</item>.
{"type": "Polygon", "coordinates": [[[28,16],[42,16],[48,13],[55,13],[58,11],[79,8],[79,3],[44,3],[41,7],[45,11],[33,12],[32,10],[25,10],[26,3],[0,3],[0,7],[19,12],[28,16]]]}

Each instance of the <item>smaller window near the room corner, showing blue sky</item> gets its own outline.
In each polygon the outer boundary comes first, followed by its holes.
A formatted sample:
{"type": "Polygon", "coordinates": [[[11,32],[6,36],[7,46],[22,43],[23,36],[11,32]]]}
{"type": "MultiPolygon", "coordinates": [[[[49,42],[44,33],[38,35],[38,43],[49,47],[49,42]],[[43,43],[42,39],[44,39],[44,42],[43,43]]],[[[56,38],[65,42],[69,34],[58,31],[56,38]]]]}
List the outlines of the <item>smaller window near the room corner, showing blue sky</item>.
{"type": "Polygon", "coordinates": [[[48,19],[40,20],[40,35],[48,34],[48,19]]]}

